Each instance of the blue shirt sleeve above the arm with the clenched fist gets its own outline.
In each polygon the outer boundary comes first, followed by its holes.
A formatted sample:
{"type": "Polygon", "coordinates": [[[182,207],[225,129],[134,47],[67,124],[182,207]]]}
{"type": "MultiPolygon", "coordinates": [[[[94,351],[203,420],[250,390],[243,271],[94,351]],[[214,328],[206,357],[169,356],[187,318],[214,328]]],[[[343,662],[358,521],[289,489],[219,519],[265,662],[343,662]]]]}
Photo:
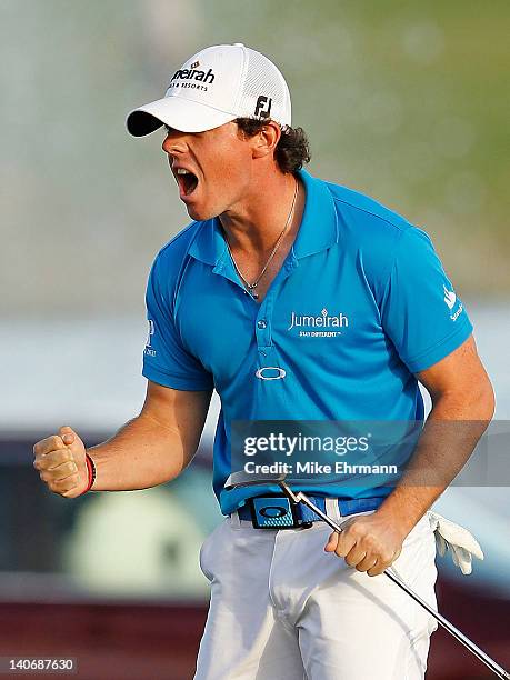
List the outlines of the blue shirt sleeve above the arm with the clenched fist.
{"type": "Polygon", "coordinates": [[[149,334],[143,351],[142,374],[158,384],[177,390],[212,390],[211,373],[182,346],[163,274],[164,270],[157,258],[147,284],[149,334]]]}

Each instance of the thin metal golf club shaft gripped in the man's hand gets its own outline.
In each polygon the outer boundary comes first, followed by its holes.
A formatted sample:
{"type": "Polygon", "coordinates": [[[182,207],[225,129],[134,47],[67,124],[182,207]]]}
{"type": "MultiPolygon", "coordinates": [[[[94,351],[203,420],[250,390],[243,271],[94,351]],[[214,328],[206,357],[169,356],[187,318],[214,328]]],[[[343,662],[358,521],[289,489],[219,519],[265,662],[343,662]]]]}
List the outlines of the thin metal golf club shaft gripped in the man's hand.
{"type": "MultiPolygon", "coordinates": [[[[337,531],[338,533],[342,532],[342,528],[334,520],[328,517],[322,510],[320,510],[302,491],[294,493],[294,497],[298,502],[302,502],[310,508],[316,514],[318,514],[331,529],[337,531]]],[[[438,621],[440,626],[444,628],[453,638],[456,638],[459,642],[461,642],[466,649],[468,649],[472,654],[477,657],[482,663],[487,666],[498,678],[502,678],[503,680],[510,680],[510,673],[508,673],[499,663],[497,663],[493,659],[491,659],[484,651],[482,651],[472,640],[467,638],[458,628],[450,623],[448,619],[441,616],[438,611],[436,611],[428,602],[426,602],[418,593],[416,593],[409,586],[400,579],[393,571],[384,570],[382,573],[387,576],[393,583],[396,583],[399,588],[401,588],[404,592],[407,592],[418,604],[421,604],[423,609],[426,609],[434,619],[438,621]]]]}

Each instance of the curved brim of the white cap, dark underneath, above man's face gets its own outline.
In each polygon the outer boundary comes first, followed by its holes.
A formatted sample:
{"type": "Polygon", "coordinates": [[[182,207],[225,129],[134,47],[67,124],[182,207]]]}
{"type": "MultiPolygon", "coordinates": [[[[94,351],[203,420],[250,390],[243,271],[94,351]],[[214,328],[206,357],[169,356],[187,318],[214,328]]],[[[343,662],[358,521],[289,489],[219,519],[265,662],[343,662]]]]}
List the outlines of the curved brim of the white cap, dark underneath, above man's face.
{"type": "Polygon", "coordinates": [[[204,132],[234,120],[237,116],[218,111],[191,99],[164,97],[134,109],[126,119],[128,132],[143,137],[169,126],[182,132],[204,132]]]}

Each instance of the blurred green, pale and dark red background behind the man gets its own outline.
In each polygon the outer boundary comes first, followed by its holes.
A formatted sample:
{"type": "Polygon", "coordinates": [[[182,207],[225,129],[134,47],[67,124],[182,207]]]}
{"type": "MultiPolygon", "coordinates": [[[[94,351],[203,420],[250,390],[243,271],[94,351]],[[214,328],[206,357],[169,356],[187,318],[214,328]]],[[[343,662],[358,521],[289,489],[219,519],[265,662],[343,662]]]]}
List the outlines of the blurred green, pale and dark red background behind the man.
{"type": "MultiPolygon", "coordinates": [[[[0,657],[183,680],[207,611],[198,552],[221,520],[217,401],[171,484],[69,501],[31,467],[34,441],[60,424],[90,446],[143,401],[146,280],[189,219],[162,133],[130,138],[126,114],[202,47],[267,53],[309,134],[310,171],[432,237],[476,326],[496,417],[510,420],[510,6],[1,0],[0,12],[0,657]]],[[[509,666],[508,490],[453,488],[437,509],[486,552],[471,577],[438,560],[441,610],[509,666]]],[[[431,680],[491,677],[443,633],[432,640],[431,680]]]]}

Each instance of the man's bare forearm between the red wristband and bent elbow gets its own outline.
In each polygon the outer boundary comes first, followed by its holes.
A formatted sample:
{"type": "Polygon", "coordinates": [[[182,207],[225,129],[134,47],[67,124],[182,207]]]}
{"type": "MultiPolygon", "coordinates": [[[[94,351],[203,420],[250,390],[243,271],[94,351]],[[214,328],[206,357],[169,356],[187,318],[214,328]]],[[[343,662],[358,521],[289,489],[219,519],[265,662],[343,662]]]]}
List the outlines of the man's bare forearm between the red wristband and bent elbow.
{"type": "Polygon", "coordinates": [[[178,477],[191,458],[178,431],[143,413],[87,452],[96,466],[92,491],[156,487],[178,477]]]}

